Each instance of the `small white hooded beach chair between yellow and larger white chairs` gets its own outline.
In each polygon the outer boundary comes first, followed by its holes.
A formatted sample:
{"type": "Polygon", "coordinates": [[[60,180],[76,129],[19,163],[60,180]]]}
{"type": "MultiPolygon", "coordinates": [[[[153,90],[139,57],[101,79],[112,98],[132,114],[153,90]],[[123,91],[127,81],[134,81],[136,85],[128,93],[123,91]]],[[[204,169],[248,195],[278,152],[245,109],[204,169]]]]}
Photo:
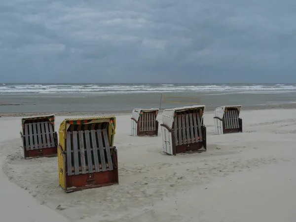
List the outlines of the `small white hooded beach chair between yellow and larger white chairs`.
{"type": "Polygon", "coordinates": [[[132,136],[157,136],[159,109],[134,109],[131,118],[132,136]]]}

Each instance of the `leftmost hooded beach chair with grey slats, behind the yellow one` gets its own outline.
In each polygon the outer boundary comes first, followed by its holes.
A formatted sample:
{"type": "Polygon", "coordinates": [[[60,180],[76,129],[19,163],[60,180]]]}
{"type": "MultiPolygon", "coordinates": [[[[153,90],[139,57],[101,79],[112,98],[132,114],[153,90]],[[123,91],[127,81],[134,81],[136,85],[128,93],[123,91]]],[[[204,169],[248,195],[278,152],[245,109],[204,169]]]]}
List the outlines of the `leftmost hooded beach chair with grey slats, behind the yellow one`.
{"type": "Polygon", "coordinates": [[[21,147],[25,159],[56,156],[58,136],[54,130],[54,115],[22,118],[21,147]]]}

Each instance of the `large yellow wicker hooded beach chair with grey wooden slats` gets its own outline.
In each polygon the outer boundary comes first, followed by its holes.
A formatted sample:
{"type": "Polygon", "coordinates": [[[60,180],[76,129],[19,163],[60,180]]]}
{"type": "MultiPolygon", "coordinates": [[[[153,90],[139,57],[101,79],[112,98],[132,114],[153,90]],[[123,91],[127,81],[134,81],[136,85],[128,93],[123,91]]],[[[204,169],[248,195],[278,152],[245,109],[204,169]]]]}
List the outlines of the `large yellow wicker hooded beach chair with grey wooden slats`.
{"type": "Polygon", "coordinates": [[[59,129],[59,182],[66,191],[118,184],[115,117],[65,119],[59,129]]]}

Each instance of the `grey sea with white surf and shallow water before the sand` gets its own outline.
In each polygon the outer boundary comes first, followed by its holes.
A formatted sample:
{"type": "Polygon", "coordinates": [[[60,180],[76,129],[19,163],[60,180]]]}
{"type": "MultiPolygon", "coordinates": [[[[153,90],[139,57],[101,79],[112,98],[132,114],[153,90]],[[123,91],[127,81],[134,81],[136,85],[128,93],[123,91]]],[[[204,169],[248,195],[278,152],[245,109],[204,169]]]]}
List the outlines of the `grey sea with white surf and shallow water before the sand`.
{"type": "Polygon", "coordinates": [[[0,113],[129,112],[205,105],[296,103],[296,83],[0,83],[0,113]]]}

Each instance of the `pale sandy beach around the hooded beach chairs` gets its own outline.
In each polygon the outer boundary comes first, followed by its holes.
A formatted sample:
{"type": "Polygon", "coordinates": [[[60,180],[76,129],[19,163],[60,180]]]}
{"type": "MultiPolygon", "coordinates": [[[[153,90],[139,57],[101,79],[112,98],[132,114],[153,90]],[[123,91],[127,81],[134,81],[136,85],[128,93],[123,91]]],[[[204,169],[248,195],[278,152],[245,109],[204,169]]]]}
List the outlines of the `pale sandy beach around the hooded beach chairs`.
{"type": "Polygon", "coordinates": [[[0,221],[294,222],[296,109],[242,110],[243,133],[227,135],[213,116],[207,152],[170,156],[160,130],[131,137],[131,114],[116,115],[119,185],[73,193],[59,186],[57,157],[21,157],[21,117],[2,116],[0,221]]]}

